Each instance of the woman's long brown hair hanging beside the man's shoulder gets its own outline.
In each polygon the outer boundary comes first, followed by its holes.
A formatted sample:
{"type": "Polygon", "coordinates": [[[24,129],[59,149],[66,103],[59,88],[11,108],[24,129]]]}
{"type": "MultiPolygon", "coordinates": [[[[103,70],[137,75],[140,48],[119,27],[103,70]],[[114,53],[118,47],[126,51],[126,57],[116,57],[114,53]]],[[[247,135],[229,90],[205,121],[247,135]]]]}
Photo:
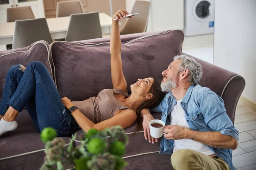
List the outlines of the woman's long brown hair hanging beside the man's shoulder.
{"type": "Polygon", "coordinates": [[[151,108],[158,106],[160,104],[160,102],[162,101],[163,97],[165,96],[165,93],[162,91],[160,85],[161,85],[161,82],[159,82],[157,80],[157,78],[154,78],[154,82],[148,91],[148,93],[151,93],[154,95],[154,98],[143,102],[143,104],[137,109],[137,120],[136,121],[137,121],[138,125],[137,125],[136,129],[134,130],[134,133],[140,131],[143,128],[143,126],[142,126],[143,119],[140,117],[140,112],[143,109],[151,109],[151,108]]]}

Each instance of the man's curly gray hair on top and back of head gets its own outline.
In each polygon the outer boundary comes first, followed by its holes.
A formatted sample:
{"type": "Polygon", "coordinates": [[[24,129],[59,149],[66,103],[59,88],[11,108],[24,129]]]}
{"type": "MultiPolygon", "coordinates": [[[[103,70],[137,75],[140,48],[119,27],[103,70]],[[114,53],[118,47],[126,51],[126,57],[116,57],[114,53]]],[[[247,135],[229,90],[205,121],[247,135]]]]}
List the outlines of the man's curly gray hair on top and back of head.
{"type": "Polygon", "coordinates": [[[178,72],[188,69],[188,81],[191,82],[192,85],[197,85],[203,76],[201,64],[199,64],[197,61],[195,61],[195,59],[187,55],[177,55],[176,57],[174,57],[173,60],[175,61],[178,59],[181,60],[178,72]]]}

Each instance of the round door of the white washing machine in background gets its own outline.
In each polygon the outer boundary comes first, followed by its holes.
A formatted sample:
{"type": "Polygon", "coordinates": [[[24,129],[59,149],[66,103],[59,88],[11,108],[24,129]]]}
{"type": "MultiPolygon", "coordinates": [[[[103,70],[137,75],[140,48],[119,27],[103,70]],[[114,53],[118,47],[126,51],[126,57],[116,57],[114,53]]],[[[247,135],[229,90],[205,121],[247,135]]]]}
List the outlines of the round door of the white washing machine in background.
{"type": "Polygon", "coordinates": [[[214,4],[211,0],[196,0],[192,7],[192,13],[196,20],[205,22],[214,15],[214,4]]]}

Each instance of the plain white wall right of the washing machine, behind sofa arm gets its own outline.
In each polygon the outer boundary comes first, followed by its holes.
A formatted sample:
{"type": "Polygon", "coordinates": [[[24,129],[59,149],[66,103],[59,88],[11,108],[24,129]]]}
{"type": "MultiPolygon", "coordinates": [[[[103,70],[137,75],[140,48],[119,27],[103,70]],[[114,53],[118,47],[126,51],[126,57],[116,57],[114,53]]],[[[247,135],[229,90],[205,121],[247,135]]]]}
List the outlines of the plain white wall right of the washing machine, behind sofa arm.
{"type": "Polygon", "coordinates": [[[256,0],[215,0],[213,63],[244,77],[256,103],[256,0]]]}

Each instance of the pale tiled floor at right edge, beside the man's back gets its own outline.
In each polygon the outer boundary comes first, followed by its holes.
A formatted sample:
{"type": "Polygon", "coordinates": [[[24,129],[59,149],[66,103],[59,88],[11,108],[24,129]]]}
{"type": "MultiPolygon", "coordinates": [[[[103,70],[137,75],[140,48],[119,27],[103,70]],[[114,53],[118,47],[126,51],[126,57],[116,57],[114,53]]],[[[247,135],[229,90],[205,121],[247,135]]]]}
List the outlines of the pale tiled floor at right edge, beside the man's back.
{"type": "Polygon", "coordinates": [[[233,150],[233,165],[237,170],[256,170],[256,112],[239,103],[235,127],[239,131],[239,144],[233,150]]]}

